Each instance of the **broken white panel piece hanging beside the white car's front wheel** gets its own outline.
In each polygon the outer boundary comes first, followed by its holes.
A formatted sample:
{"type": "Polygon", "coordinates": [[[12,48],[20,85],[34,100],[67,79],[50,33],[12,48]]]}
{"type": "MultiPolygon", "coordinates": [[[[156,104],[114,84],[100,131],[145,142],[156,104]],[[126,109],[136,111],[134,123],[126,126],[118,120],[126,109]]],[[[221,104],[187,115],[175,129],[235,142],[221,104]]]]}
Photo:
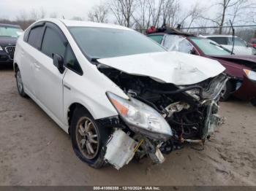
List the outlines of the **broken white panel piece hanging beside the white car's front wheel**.
{"type": "Polygon", "coordinates": [[[132,160],[137,145],[138,142],[130,138],[123,130],[115,130],[106,145],[105,161],[119,170],[132,160]]]}

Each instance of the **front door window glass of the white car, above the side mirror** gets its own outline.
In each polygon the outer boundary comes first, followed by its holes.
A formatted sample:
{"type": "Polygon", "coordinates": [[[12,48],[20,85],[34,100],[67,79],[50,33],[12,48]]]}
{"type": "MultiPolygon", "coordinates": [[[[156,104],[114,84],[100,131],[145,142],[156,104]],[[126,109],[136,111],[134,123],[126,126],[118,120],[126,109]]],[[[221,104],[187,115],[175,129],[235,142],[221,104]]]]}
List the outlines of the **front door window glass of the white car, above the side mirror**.
{"type": "Polygon", "coordinates": [[[60,34],[52,28],[47,27],[42,40],[41,51],[53,58],[53,54],[61,55],[64,58],[65,44],[63,39],[61,39],[60,34]]]}

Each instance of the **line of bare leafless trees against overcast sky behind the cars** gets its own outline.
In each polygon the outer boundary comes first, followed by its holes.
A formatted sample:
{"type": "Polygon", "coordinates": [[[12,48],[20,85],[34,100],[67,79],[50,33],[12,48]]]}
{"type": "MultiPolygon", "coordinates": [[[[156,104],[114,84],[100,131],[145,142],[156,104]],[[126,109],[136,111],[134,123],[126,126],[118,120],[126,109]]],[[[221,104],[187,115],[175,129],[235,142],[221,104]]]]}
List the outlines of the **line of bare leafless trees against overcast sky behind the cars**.
{"type": "MultiPolygon", "coordinates": [[[[121,26],[145,31],[151,26],[218,26],[216,31],[223,34],[222,26],[236,24],[256,24],[255,0],[216,0],[205,5],[181,4],[179,0],[105,0],[91,8],[87,20],[98,23],[116,23],[121,26]],[[209,14],[210,12],[211,14],[209,14]]],[[[32,9],[31,12],[21,11],[15,20],[1,19],[0,23],[18,24],[25,29],[35,20],[43,17],[62,17],[53,12],[47,15],[44,9],[32,9]]],[[[72,20],[85,20],[74,16],[72,20]]],[[[230,29],[229,29],[230,30],[230,29]]]]}

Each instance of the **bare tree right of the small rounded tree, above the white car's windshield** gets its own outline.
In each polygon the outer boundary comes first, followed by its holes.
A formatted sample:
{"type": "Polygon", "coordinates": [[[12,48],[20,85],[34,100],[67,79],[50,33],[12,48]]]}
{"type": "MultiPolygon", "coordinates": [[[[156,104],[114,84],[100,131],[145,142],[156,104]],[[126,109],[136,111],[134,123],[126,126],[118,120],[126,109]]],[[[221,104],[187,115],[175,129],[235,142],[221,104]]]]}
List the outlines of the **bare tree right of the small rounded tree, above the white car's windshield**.
{"type": "Polygon", "coordinates": [[[119,25],[132,27],[132,15],[135,12],[136,0],[111,0],[110,10],[119,25]]]}

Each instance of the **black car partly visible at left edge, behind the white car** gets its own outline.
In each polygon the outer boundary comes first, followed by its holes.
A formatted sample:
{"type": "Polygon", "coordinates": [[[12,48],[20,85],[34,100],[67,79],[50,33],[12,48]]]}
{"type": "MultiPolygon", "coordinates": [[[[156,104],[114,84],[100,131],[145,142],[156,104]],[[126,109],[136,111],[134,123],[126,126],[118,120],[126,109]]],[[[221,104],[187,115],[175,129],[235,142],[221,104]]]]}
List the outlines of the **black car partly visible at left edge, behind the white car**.
{"type": "Polygon", "coordinates": [[[12,63],[15,44],[22,33],[20,26],[0,23],[0,64],[12,63]]]}

